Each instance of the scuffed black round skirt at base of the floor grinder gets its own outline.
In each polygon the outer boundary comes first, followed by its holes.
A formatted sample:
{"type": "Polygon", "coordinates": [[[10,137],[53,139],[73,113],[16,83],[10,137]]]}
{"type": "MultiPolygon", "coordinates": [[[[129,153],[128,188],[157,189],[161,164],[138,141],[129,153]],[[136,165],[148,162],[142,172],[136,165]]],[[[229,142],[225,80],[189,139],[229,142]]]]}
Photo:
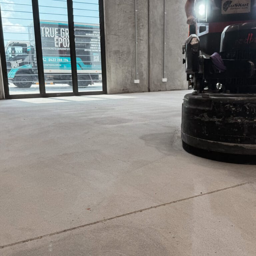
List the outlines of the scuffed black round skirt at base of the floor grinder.
{"type": "Polygon", "coordinates": [[[237,157],[253,160],[256,95],[196,92],[185,95],[181,138],[183,148],[196,155],[201,151],[203,157],[220,161],[236,162],[228,158],[237,160],[237,157]]]}

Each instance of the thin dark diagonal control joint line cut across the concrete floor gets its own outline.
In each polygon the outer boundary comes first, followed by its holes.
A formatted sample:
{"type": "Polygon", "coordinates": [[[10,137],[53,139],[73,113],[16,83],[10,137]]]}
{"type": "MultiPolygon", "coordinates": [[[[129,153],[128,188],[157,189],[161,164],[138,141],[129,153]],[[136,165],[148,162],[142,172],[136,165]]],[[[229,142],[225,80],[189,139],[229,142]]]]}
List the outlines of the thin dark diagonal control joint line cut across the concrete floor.
{"type": "Polygon", "coordinates": [[[84,225],[81,225],[81,226],[77,226],[77,227],[57,231],[57,232],[42,235],[42,236],[33,237],[33,238],[30,238],[30,239],[18,241],[18,242],[12,243],[12,244],[2,245],[2,246],[0,246],[0,249],[10,247],[10,246],[14,246],[14,245],[18,245],[18,244],[23,244],[23,243],[26,243],[26,242],[31,242],[31,241],[38,240],[38,239],[41,239],[41,238],[44,238],[44,237],[48,237],[48,236],[58,235],[58,234],[65,233],[65,232],[68,232],[68,231],[72,231],[72,230],[75,230],[75,229],[84,228],[84,227],[87,227],[87,226],[92,226],[92,225],[95,225],[95,224],[98,224],[98,223],[106,222],[108,220],[118,219],[118,218],[125,217],[125,216],[131,215],[131,214],[135,214],[135,213],[144,212],[144,211],[147,211],[147,210],[150,210],[150,209],[158,208],[158,207],[161,207],[161,206],[166,206],[166,205],[186,201],[186,200],[189,200],[189,199],[193,199],[193,198],[196,198],[196,197],[205,196],[205,195],[213,194],[213,193],[216,193],[216,192],[224,191],[224,190],[227,190],[227,189],[240,187],[240,186],[247,185],[247,184],[254,183],[254,182],[256,182],[256,180],[244,182],[244,183],[234,185],[234,186],[231,186],[231,187],[214,190],[214,191],[211,191],[211,192],[207,192],[207,193],[203,193],[203,194],[199,194],[199,195],[195,195],[195,196],[191,196],[191,197],[187,197],[187,198],[183,198],[183,199],[179,199],[179,200],[172,201],[172,202],[169,202],[169,203],[150,206],[148,208],[144,208],[144,209],[137,210],[137,211],[134,211],[134,212],[129,212],[129,213],[125,213],[125,214],[115,216],[115,217],[107,218],[107,219],[104,219],[104,220],[99,220],[99,221],[95,221],[95,222],[92,222],[92,223],[84,224],[84,225]]]}

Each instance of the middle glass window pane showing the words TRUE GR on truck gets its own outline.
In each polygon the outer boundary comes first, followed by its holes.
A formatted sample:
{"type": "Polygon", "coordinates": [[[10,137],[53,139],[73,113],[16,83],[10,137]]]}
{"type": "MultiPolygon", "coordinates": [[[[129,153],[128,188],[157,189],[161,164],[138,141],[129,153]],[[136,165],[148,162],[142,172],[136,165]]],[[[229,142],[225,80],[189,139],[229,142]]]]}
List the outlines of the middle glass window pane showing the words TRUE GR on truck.
{"type": "Polygon", "coordinates": [[[73,92],[67,1],[38,4],[46,93],[73,92]]]}

